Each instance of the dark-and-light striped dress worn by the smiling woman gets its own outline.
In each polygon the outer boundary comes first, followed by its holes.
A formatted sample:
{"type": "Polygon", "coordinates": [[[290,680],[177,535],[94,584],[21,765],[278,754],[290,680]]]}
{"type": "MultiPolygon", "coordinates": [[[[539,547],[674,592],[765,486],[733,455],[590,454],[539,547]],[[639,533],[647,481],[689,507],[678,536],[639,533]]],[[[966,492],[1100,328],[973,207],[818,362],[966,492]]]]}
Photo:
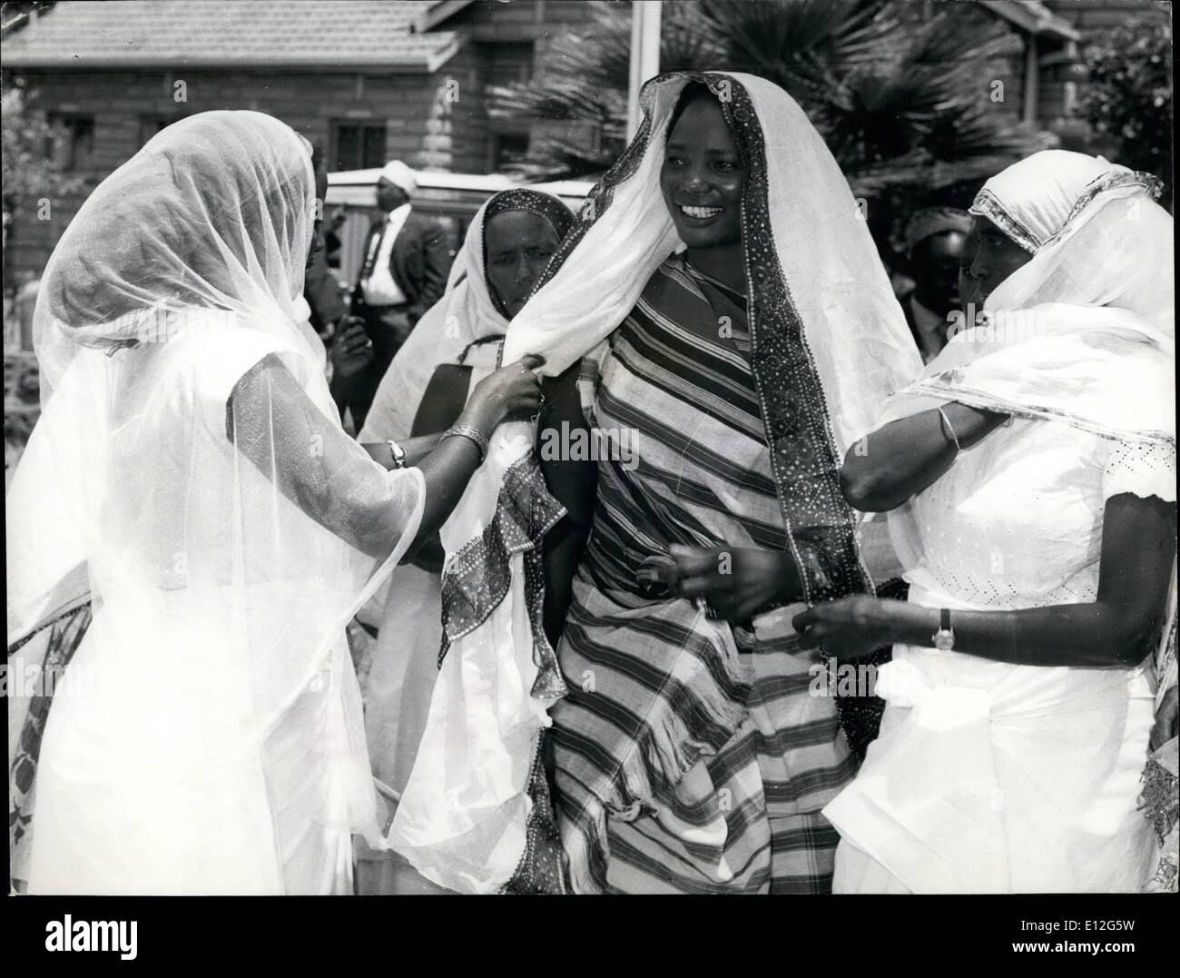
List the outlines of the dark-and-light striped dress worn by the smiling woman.
{"type": "Polygon", "coordinates": [[[637,593],[673,543],[785,550],[743,296],[674,255],[611,338],[598,504],[558,652],[558,820],[576,892],[826,892],[819,815],[854,774],[793,608],[753,631],[637,593]],[[719,317],[729,328],[717,330],[719,317]],[[622,443],[623,433],[630,445],[622,443]]]}

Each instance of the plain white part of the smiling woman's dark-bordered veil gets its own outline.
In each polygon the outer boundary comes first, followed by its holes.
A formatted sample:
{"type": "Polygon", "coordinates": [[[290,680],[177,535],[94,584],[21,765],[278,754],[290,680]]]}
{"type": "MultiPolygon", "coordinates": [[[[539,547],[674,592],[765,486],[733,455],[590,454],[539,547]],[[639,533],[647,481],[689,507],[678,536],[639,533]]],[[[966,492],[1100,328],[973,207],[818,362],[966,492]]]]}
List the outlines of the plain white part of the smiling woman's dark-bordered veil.
{"type": "MultiPolygon", "coordinates": [[[[748,266],[781,265],[843,456],[920,360],[847,181],[804,111],[762,78],[706,74],[722,92],[740,86],[760,122],[773,254],[753,255],[748,266]]],[[[668,122],[689,80],[662,76],[644,87],[637,143],[588,202],[564,265],[512,320],[504,363],[542,353],[544,373],[564,371],[623,321],[655,269],[683,247],[658,175],[668,122]]],[[[750,281],[750,292],[760,285],[750,281]]],[[[505,474],[527,461],[533,443],[531,425],[500,426],[442,529],[448,555],[493,524],[505,474]]],[[[452,635],[415,765],[421,781],[408,785],[393,826],[394,847],[420,872],[464,892],[497,889],[523,854],[525,782],[553,702],[530,696],[538,665],[523,566],[513,553],[506,596],[452,635]]]]}

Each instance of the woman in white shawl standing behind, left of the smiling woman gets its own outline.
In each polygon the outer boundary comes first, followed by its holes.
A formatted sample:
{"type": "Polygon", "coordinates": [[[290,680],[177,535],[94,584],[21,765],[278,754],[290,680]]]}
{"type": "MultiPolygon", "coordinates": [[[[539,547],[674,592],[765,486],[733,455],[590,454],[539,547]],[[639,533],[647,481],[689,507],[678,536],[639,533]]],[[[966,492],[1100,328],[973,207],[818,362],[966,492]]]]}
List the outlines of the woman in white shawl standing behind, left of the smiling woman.
{"type": "MultiPolygon", "coordinates": [[[[496,369],[511,314],[519,312],[572,224],[573,214],[564,203],[529,188],[496,194],[476,213],[451,267],[446,293],[414,327],[381,379],[358,437],[362,445],[374,445],[380,452],[386,439],[402,443],[411,438],[414,416],[438,366],[470,366],[472,384],[496,369]],[[494,289],[487,270],[487,249],[490,244],[499,247],[500,239],[494,235],[505,214],[540,219],[539,227],[526,226],[531,234],[511,242],[516,260],[507,268],[507,302],[494,289]]],[[[494,260],[504,262],[499,254],[494,260]]],[[[438,569],[406,563],[391,574],[380,602],[374,599],[376,607],[363,612],[367,619],[380,622],[372,665],[362,683],[365,729],[373,774],[391,798],[405,790],[426,726],[442,640],[441,595],[438,569]]],[[[405,878],[396,865],[385,872],[393,878],[367,881],[362,892],[421,888],[419,880],[405,878]]]]}

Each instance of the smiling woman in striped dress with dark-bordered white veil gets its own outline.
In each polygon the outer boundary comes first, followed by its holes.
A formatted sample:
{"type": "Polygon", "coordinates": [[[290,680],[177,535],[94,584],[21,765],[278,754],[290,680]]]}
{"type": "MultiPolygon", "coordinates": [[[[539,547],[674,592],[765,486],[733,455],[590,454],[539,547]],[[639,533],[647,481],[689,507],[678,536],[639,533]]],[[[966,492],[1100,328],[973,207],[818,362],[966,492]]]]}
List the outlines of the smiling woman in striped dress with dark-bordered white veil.
{"type": "Polygon", "coordinates": [[[856,763],[791,618],[872,591],[838,446],[920,361],[786,92],[671,74],[644,103],[563,246],[573,276],[644,275],[583,361],[598,489],[550,758],[571,886],[828,892],[820,809],[856,763]],[[624,266],[611,242],[636,236],[624,266]]]}

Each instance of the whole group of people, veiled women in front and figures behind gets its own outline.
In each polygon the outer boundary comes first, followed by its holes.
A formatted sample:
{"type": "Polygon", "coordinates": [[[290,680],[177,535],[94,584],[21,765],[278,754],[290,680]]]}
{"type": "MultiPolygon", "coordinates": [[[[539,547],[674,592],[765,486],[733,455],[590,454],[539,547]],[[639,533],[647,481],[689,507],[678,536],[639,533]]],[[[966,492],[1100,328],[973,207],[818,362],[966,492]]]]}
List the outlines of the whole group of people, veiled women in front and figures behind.
{"type": "Polygon", "coordinates": [[[9,656],[79,678],[14,885],[1175,889],[1159,181],[1022,159],[913,215],[899,301],[782,89],[642,104],[581,213],[496,194],[453,260],[389,163],[347,299],[277,119],[88,198],[8,497],[9,656]]]}

